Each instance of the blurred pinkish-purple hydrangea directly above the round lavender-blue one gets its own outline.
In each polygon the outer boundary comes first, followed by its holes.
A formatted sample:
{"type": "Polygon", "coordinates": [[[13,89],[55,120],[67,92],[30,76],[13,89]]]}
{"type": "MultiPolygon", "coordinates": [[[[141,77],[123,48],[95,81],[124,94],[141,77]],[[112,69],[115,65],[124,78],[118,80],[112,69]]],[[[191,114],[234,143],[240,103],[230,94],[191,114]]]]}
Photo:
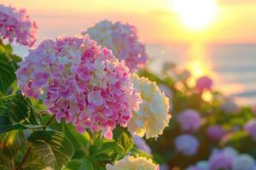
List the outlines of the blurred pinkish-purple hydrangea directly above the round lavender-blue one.
{"type": "Polygon", "coordinates": [[[201,127],[201,117],[197,111],[185,110],[178,114],[177,122],[185,132],[194,133],[201,127]]]}

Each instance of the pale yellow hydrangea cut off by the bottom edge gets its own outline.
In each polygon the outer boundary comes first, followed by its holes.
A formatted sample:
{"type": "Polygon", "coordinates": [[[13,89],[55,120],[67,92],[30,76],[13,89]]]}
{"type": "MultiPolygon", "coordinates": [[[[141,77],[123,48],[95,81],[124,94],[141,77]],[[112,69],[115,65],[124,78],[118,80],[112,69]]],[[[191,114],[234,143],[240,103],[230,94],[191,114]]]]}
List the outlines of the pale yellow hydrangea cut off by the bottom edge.
{"type": "Polygon", "coordinates": [[[125,156],[113,165],[107,164],[107,170],[160,170],[159,165],[155,165],[152,160],[144,157],[125,156]]]}

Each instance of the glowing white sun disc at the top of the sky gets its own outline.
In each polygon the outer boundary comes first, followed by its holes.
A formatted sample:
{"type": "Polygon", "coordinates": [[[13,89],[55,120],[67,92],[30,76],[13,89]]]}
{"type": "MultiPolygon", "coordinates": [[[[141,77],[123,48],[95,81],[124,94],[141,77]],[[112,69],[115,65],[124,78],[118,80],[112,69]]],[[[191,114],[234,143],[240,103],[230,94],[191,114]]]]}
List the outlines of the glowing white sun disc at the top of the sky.
{"type": "Polygon", "coordinates": [[[217,11],[215,0],[171,0],[172,9],[180,15],[183,24],[193,30],[210,25],[217,11]]]}

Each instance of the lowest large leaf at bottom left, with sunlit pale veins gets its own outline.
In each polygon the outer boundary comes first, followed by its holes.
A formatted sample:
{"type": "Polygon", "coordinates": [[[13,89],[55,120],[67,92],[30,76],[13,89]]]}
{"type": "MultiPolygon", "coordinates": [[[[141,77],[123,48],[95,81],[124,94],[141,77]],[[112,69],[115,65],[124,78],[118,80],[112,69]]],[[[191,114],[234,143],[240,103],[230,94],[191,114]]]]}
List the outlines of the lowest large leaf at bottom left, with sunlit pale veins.
{"type": "Polygon", "coordinates": [[[26,167],[31,167],[37,162],[54,169],[61,169],[71,160],[74,153],[73,144],[66,136],[56,131],[35,131],[28,141],[33,156],[40,159],[28,162],[26,167]]]}

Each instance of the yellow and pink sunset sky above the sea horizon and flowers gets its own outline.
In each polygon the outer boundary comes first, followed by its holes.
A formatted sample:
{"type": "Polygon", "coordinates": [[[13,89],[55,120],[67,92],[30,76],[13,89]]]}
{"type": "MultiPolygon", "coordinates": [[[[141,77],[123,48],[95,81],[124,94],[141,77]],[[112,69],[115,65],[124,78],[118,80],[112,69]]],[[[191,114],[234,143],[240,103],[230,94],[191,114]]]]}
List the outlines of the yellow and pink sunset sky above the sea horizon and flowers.
{"type": "Polygon", "coordinates": [[[189,0],[177,10],[172,1],[176,0],[0,0],[26,8],[37,21],[41,38],[77,34],[96,21],[108,19],[137,26],[144,42],[256,42],[256,0],[216,0],[214,8],[189,0]],[[192,8],[189,12],[188,7],[192,8]],[[213,9],[211,20],[193,18],[194,11],[207,16],[213,9]]]}

